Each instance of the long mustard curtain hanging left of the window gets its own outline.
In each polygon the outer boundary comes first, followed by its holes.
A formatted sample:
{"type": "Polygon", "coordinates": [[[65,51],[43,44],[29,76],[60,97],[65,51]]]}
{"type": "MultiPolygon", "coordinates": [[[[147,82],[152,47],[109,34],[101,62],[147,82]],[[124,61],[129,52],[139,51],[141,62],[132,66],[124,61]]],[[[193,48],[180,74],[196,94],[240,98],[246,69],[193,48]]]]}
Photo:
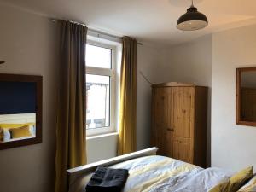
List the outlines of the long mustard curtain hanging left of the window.
{"type": "Polygon", "coordinates": [[[67,169],[86,163],[85,44],[87,27],[61,21],[55,192],[68,189],[67,169]]]}

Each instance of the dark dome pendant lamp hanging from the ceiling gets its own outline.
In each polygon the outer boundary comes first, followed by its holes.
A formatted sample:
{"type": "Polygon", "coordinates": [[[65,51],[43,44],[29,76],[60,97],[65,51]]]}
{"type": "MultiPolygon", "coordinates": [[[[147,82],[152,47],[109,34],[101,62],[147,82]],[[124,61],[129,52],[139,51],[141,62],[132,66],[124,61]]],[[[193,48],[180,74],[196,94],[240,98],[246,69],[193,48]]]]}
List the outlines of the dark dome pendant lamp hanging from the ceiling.
{"type": "Polygon", "coordinates": [[[187,9],[187,13],[177,20],[177,28],[183,31],[195,31],[202,29],[207,25],[207,16],[197,11],[197,8],[194,7],[193,0],[192,5],[187,9]]]}

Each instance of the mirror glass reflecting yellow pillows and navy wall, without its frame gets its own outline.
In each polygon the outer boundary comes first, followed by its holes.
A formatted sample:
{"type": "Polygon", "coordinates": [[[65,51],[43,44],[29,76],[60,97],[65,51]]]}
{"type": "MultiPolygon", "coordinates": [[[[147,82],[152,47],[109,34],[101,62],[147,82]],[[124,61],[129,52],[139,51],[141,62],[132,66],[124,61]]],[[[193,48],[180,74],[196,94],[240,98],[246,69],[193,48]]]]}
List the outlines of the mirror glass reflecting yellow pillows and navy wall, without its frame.
{"type": "Polygon", "coordinates": [[[35,82],[0,82],[0,143],[36,137],[35,82]]]}

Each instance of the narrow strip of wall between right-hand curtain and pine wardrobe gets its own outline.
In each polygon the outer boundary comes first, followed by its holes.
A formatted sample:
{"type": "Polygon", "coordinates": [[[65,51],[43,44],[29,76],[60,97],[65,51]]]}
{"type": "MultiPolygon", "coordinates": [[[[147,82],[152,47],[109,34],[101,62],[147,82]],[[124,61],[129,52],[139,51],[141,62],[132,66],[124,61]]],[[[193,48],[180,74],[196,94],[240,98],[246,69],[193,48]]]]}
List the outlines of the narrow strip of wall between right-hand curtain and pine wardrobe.
{"type": "Polygon", "coordinates": [[[160,49],[153,45],[137,46],[137,150],[150,147],[151,132],[151,84],[140,72],[154,81],[160,59],[160,49]]]}

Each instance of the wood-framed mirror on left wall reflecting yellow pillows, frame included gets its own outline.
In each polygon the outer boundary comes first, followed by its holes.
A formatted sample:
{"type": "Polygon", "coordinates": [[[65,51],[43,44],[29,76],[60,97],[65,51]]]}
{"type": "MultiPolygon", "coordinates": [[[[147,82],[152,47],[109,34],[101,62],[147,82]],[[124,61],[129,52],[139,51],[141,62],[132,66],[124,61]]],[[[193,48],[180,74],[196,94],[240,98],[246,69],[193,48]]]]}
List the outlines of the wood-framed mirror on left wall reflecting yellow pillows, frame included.
{"type": "Polygon", "coordinates": [[[0,74],[0,149],[42,143],[42,76],[0,74]]]}

